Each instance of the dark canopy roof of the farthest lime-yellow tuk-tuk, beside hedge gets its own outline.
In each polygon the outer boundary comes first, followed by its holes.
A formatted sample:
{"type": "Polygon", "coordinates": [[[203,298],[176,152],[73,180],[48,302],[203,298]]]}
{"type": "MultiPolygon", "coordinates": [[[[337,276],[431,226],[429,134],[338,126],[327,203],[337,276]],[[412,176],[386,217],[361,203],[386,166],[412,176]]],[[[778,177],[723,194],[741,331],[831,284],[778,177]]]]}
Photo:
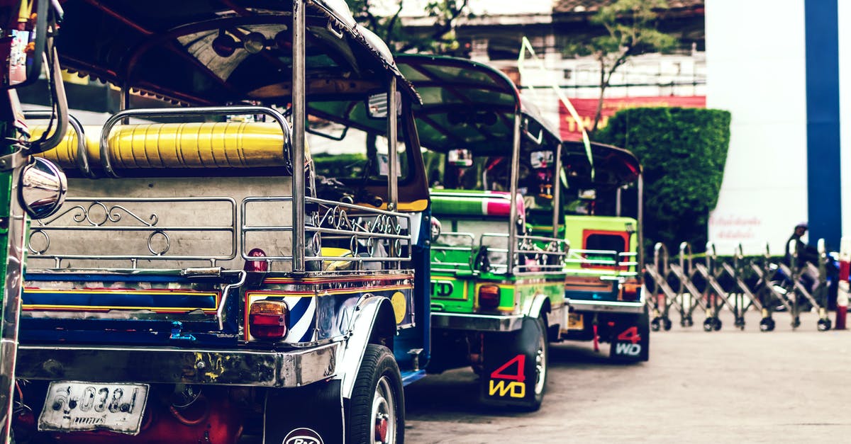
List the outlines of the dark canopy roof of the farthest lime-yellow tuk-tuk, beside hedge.
{"type": "Polygon", "coordinates": [[[641,163],[631,151],[591,142],[591,155],[594,157],[593,180],[582,141],[563,142],[562,163],[571,186],[586,189],[616,188],[635,182],[641,174],[641,163]]]}

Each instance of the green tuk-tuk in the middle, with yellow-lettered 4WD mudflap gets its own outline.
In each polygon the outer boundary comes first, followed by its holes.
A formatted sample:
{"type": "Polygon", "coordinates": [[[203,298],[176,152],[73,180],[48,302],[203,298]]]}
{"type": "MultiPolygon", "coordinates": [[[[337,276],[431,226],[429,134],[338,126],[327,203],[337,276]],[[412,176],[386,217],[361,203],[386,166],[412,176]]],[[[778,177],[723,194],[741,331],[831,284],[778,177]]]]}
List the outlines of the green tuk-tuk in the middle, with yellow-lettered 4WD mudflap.
{"type": "Polygon", "coordinates": [[[548,343],[565,325],[568,242],[528,219],[551,204],[561,140],[500,71],[471,60],[397,56],[431,185],[428,369],[471,366],[489,404],[537,409],[548,343]]]}

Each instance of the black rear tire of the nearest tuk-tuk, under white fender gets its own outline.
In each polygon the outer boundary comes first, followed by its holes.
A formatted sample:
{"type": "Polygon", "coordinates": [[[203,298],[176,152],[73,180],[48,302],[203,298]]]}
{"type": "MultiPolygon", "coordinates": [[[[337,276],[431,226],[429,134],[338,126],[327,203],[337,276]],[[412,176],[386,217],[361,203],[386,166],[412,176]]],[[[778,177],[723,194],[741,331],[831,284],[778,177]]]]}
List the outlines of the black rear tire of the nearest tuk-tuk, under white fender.
{"type": "Polygon", "coordinates": [[[385,442],[403,444],[405,399],[396,358],[387,347],[368,344],[357,371],[346,412],[346,443],[385,442]],[[384,417],[384,418],[381,418],[384,417]],[[381,441],[379,423],[384,420],[386,440],[381,441]]]}

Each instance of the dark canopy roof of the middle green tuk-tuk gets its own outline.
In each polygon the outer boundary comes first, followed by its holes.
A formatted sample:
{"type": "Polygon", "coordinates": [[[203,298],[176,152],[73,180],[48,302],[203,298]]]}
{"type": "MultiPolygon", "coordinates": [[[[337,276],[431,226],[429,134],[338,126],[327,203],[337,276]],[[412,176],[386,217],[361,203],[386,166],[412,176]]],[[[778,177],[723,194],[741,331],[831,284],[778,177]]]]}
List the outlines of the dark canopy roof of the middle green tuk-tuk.
{"type": "Polygon", "coordinates": [[[422,98],[422,105],[414,107],[420,145],[434,151],[465,148],[477,155],[510,155],[517,111],[528,135],[523,146],[554,150],[558,144],[557,128],[522,99],[501,71],[452,57],[400,54],[396,61],[422,98]]]}

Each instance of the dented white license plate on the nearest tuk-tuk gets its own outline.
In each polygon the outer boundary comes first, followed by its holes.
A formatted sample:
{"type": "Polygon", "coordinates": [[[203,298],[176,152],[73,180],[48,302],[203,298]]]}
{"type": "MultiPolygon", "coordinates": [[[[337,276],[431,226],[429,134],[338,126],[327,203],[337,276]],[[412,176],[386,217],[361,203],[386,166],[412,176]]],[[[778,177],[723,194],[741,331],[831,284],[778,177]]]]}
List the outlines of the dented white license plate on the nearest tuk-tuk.
{"type": "Polygon", "coordinates": [[[148,400],[148,384],[53,381],[38,430],[110,430],[136,435],[148,400]]]}

